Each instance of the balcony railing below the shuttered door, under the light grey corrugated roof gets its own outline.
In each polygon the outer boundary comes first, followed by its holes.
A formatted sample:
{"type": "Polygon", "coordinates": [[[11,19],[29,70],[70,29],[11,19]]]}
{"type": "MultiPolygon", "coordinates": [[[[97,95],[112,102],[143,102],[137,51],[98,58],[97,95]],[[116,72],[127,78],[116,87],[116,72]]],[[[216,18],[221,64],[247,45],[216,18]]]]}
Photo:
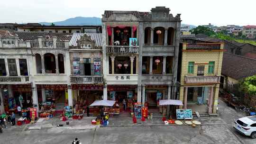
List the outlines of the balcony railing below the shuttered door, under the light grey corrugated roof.
{"type": "Polygon", "coordinates": [[[102,83],[102,75],[98,76],[70,76],[70,82],[72,83],[102,83]]]}

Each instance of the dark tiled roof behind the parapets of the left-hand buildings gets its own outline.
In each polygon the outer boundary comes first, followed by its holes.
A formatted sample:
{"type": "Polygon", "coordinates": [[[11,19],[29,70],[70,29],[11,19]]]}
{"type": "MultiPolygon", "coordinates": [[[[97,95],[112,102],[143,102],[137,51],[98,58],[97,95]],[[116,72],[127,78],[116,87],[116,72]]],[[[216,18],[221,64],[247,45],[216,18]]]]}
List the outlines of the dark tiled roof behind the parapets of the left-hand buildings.
{"type": "Polygon", "coordinates": [[[38,36],[57,36],[57,41],[70,41],[72,33],[46,33],[46,32],[15,32],[18,35],[19,39],[23,41],[33,41],[38,38],[38,36]]]}

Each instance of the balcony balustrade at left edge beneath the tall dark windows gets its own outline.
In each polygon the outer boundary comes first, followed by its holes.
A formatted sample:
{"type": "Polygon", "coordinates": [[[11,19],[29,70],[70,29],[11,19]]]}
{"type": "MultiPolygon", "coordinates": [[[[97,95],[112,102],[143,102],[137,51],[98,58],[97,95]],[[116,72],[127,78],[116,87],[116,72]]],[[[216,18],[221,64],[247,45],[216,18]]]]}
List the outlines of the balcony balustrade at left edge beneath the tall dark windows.
{"type": "Polygon", "coordinates": [[[29,76],[0,76],[1,84],[26,84],[30,82],[29,76]]]}

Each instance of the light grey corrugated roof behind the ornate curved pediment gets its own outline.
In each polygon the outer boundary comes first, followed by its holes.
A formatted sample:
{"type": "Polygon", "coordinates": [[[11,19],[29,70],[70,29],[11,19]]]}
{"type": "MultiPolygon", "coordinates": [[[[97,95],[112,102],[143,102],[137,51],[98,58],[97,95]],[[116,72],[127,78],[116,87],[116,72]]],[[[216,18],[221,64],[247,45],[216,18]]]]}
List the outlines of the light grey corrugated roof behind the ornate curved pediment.
{"type": "Polygon", "coordinates": [[[69,42],[70,46],[77,46],[76,41],[86,34],[87,36],[91,36],[91,40],[95,41],[95,46],[102,46],[102,34],[101,33],[73,33],[73,36],[69,42]]]}

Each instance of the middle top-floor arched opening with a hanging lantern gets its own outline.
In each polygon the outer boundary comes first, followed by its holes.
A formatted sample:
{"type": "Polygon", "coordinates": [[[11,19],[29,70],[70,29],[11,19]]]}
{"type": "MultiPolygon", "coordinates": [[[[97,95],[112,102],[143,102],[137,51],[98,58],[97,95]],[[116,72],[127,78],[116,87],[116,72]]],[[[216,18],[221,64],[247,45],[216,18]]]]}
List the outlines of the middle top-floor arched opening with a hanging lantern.
{"type": "Polygon", "coordinates": [[[164,45],[164,40],[165,40],[164,27],[155,27],[153,35],[154,35],[154,45],[164,45]]]}

